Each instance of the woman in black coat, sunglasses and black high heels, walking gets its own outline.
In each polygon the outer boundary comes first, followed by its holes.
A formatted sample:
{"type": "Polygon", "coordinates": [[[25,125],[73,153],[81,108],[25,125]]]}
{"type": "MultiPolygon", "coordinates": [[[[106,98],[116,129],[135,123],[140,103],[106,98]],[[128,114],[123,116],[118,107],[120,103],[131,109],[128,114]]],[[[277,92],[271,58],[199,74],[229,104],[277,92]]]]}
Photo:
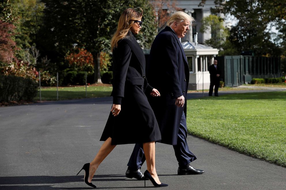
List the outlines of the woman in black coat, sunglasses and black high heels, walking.
{"type": "MultiPolygon", "coordinates": [[[[155,169],[155,141],[161,134],[147,95],[160,96],[145,78],[145,57],[133,34],[141,29],[143,10],[126,9],[119,18],[111,40],[113,57],[113,104],[101,141],[105,141],[91,163],[84,164],[84,182],[91,183],[99,164],[118,144],[143,143],[147,170],[145,179],[154,186],[168,186],[160,182],[155,169]]],[[[81,171],[80,170],[80,171],[81,171]]]]}

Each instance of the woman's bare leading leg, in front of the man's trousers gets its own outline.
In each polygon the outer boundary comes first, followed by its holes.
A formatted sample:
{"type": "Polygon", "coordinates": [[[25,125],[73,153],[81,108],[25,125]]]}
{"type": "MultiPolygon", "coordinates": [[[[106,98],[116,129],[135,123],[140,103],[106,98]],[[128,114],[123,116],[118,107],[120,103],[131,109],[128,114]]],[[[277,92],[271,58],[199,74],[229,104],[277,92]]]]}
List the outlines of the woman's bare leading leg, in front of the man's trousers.
{"type": "Polygon", "coordinates": [[[161,184],[155,168],[155,141],[143,143],[143,150],[146,157],[147,170],[155,179],[156,183],[161,184]]]}

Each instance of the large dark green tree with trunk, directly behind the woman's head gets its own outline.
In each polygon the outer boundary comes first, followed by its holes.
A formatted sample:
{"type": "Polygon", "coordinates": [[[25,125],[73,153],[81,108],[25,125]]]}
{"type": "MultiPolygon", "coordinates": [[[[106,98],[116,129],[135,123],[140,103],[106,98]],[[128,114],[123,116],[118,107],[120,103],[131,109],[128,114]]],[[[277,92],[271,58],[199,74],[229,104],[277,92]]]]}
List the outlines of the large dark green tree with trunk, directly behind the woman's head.
{"type": "MultiPolygon", "coordinates": [[[[74,47],[84,48],[93,55],[95,82],[100,82],[99,57],[110,51],[110,40],[120,14],[129,7],[144,10],[142,32],[137,37],[142,47],[149,47],[155,37],[152,6],[147,0],[43,0],[44,26],[40,49],[56,52],[64,59],[74,47]]],[[[52,54],[52,53],[51,53],[52,54]]]]}

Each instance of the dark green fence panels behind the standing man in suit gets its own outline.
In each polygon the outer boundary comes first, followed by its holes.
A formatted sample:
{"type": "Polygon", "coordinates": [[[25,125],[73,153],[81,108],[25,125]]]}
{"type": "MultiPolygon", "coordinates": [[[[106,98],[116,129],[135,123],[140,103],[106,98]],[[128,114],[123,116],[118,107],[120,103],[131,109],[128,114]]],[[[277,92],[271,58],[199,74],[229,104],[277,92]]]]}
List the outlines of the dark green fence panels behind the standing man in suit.
{"type": "Polygon", "coordinates": [[[226,87],[248,84],[252,78],[281,77],[280,57],[220,56],[216,57],[226,87]]]}

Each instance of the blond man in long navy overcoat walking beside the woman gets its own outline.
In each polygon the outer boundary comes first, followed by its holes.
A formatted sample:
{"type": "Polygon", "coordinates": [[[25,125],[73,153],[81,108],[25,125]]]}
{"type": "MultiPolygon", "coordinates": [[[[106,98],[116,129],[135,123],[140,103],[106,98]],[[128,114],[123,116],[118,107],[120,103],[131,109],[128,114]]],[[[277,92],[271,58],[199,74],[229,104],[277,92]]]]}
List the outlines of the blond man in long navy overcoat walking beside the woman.
{"type": "MultiPolygon", "coordinates": [[[[161,143],[173,145],[178,160],[178,175],[202,174],[190,165],[196,160],[187,144],[187,91],[189,66],[180,38],[189,30],[193,18],[177,11],[153,41],[146,76],[161,96],[148,98],[161,131],[161,143]]],[[[140,134],[138,134],[140,135],[140,134]]],[[[142,144],[136,144],[128,162],[126,177],[143,179],[141,166],[145,161],[142,144]]]]}

